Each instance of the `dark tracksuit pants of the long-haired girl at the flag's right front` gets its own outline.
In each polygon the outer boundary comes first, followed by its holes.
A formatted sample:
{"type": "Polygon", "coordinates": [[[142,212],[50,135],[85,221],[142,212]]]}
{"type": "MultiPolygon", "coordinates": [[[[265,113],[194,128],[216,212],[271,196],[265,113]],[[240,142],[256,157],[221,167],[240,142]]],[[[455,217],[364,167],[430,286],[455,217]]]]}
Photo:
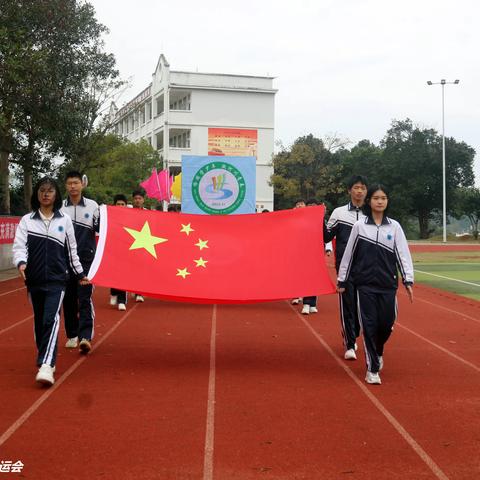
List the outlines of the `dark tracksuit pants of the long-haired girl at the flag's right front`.
{"type": "Polygon", "coordinates": [[[397,290],[359,287],[357,305],[367,370],[377,373],[380,367],[378,357],[383,356],[385,343],[397,318],[397,290]]]}

